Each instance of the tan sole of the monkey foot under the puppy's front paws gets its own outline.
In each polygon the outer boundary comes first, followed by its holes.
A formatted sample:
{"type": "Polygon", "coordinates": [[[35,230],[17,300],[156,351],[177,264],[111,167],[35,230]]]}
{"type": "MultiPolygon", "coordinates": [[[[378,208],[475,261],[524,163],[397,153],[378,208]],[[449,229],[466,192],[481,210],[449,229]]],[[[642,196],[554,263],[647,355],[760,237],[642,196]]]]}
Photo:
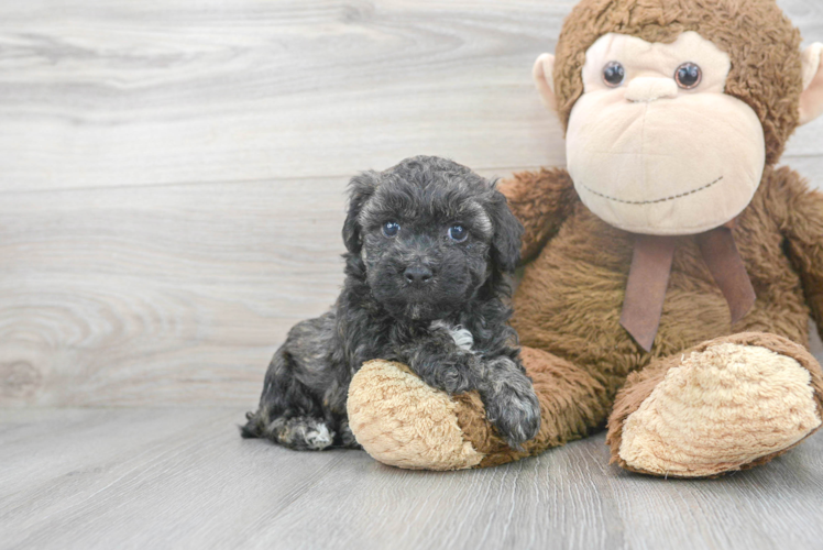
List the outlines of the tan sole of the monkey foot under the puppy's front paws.
{"type": "Polygon", "coordinates": [[[403,364],[370,361],[349,386],[349,426],[375,460],[414,470],[461,470],[480,463],[458,426],[457,404],[403,364]]]}

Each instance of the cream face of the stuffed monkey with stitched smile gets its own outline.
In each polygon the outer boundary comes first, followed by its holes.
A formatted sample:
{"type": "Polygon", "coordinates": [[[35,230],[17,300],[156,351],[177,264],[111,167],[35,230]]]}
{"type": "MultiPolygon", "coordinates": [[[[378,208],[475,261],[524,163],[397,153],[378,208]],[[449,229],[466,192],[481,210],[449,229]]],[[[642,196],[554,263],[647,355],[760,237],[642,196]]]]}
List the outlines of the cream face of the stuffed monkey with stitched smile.
{"type": "Polygon", "coordinates": [[[691,234],[749,204],[766,147],[755,111],[724,94],[728,55],[698,33],[671,44],[610,33],[586,52],[569,119],[581,200],[619,229],[691,234]]]}

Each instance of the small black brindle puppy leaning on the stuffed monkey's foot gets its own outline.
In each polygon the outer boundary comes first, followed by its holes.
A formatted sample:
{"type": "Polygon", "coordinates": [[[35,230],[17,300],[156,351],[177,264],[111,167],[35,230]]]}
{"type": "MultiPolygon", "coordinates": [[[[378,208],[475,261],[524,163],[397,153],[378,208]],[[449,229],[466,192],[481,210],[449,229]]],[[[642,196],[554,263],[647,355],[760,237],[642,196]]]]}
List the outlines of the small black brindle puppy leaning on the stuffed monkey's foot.
{"type": "Polygon", "coordinates": [[[406,363],[449,394],[478,389],[513,447],[535,437],[540,408],[502,301],[523,233],[506,198],[469,168],[430,156],[361,174],[350,191],[342,293],[331,311],[290,330],[243,437],[292,449],[358,447],[347,394],[372,359],[406,363]]]}

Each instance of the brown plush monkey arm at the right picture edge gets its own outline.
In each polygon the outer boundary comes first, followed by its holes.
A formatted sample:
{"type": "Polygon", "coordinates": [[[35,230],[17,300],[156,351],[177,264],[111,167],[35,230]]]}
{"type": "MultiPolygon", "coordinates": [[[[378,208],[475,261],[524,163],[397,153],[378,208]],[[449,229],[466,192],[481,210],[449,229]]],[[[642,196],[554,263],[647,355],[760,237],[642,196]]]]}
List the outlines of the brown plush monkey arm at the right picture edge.
{"type": "Polygon", "coordinates": [[[779,220],[787,252],[800,274],[817,333],[823,337],[823,193],[810,189],[788,168],[776,170],[773,177],[784,195],[779,220]]]}

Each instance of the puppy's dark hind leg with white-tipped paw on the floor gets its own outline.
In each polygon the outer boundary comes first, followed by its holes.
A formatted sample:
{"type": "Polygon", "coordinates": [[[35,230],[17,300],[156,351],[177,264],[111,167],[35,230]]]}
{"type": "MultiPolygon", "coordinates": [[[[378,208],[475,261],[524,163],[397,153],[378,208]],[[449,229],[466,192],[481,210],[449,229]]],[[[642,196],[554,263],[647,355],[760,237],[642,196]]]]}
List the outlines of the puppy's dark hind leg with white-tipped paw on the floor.
{"type": "Polygon", "coordinates": [[[260,407],[245,415],[243,438],[264,438],[289,449],[320,451],[334,441],[323,410],[310,388],[294,376],[293,358],[277,350],[268,365],[260,407]]]}

